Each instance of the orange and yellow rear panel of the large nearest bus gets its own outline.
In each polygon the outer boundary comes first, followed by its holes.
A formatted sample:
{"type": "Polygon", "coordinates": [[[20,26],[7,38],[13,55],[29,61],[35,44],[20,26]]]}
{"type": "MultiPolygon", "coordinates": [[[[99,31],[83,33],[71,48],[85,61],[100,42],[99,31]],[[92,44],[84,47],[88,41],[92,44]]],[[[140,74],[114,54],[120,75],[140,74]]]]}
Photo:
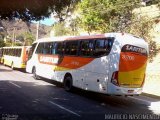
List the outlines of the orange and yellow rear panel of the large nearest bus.
{"type": "MultiPolygon", "coordinates": [[[[133,47],[126,45],[124,47],[133,47]]],[[[136,47],[138,48],[138,47],[136,47]]],[[[144,48],[139,48],[144,49],[144,48]]],[[[123,87],[141,87],[145,78],[145,71],[147,65],[147,54],[144,49],[144,55],[138,52],[123,51],[120,54],[119,64],[119,84],[123,87]]],[[[143,51],[142,51],[143,52],[143,51]]]]}

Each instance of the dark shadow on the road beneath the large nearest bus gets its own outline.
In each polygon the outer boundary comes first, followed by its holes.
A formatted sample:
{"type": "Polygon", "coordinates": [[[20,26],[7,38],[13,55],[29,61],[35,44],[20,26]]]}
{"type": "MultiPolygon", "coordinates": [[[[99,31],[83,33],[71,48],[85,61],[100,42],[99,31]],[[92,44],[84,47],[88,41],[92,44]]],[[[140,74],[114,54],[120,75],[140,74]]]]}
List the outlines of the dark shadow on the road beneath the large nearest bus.
{"type": "MultiPolygon", "coordinates": [[[[45,82],[54,84],[57,87],[63,88],[62,83],[59,83],[53,80],[48,80],[48,79],[42,79],[42,80],[45,82]]],[[[66,93],[70,96],[76,95],[79,97],[84,97],[87,100],[94,101],[96,102],[96,104],[98,103],[103,107],[111,106],[111,107],[116,107],[116,108],[124,108],[124,111],[127,111],[126,109],[128,109],[129,113],[131,111],[135,113],[143,113],[144,110],[142,109],[146,109],[145,112],[151,113],[151,111],[148,110],[148,107],[149,107],[148,105],[139,103],[138,101],[131,99],[129,97],[126,97],[126,96],[113,96],[113,95],[101,94],[101,93],[82,90],[82,89],[75,88],[75,87],[72,92],[66,91],[66,93]]],[[[66,96],[66,98],[64,99],[68,99],[67,97],[68,96],[66,96]]]]}

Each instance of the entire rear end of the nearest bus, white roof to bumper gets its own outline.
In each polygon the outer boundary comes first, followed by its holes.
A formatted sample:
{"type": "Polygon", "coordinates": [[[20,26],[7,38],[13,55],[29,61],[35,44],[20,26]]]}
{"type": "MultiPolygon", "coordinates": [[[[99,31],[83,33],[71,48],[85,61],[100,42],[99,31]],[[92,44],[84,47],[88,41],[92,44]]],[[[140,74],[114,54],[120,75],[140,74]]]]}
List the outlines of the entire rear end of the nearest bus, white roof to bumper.
{"type": "Polygon", "coordinates": [[[141,94],[147,66],[148,44],[143,39],[131,35],[124,35],[118,39],[121,43],[120,53],[111,55],[111,59],[117,56],[118,66],[112,68],[114,62],[111,62],[110,66],[111,71],[117,71],[118,85],[110,82],[108,92],[117,95],[141,94]]]}

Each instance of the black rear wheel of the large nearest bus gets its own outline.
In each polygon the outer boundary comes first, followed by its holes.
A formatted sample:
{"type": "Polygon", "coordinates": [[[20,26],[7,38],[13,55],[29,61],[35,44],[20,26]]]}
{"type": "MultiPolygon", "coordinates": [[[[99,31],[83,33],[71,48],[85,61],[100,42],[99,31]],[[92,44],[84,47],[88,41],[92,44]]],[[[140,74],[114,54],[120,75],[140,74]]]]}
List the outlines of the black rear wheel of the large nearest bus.
{"type": "Polygon", "coordinates": [[[73,90],[73,81],[71,76],[66,76],[64,78],[64,89],[68,92],[71,92],[73,90]]]}

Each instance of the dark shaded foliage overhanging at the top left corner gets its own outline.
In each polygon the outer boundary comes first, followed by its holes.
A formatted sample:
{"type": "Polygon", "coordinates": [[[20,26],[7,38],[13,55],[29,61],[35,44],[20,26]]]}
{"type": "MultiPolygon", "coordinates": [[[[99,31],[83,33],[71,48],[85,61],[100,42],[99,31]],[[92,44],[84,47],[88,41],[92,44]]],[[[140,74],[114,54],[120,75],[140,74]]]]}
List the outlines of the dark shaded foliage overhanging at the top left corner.
{"type": "Polygon", "coordinates": [[[1,19],[40,20],[49,17],[52,12],[61,13],[63,8],[78,0],[1,0],[1,19]]]}

